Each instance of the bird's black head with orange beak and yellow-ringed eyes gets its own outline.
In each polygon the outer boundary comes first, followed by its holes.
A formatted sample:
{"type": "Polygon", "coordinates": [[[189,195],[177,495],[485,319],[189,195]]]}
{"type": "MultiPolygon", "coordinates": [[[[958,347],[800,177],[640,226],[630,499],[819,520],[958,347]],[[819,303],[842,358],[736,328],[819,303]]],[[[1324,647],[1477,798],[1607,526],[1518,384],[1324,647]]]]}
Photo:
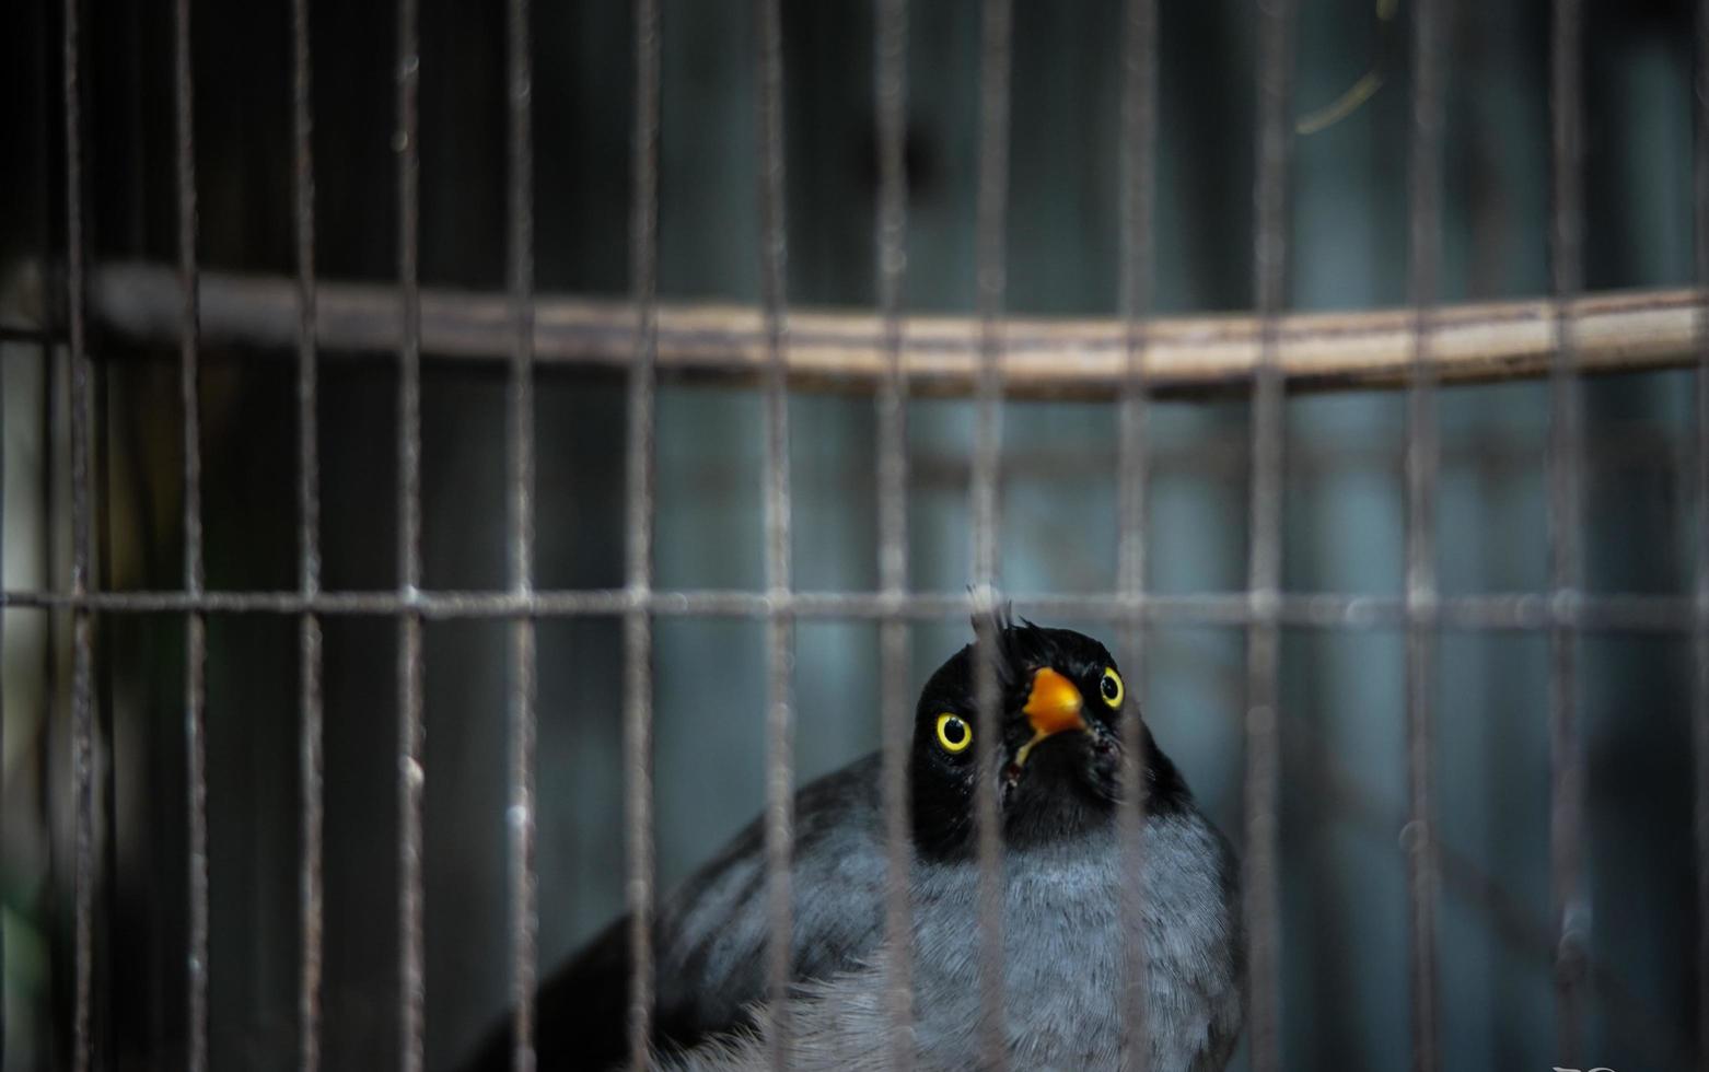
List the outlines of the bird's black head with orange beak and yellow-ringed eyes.
{"type": "MultiPolygon", "coordinates": [[[[1007,614],[976,621],[978,641],[926,680],[914,715],[911,759],[914,841],[954,857],[974,845],[978,667],[993,669],[996,778],[1003,839],[1024,846],[1109,822],[1121,798],[1123,711],[1135,703],[1104,645],[1007,614]]],[[[1136,708],[1135,708],[1136,713],[1136,708]]],[[[1143,781],[1152,812],[1188,800],[1169,757],[1142,728],[1143,781]]]]}

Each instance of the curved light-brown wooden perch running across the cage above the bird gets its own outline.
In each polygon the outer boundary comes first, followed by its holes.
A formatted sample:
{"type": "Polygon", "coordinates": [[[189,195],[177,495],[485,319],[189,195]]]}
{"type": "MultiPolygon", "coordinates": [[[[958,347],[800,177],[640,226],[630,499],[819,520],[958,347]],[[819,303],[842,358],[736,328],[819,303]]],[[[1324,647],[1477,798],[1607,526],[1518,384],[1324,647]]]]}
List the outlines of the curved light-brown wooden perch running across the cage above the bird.
{"type": "MultiPolygon", "coordinates": [[[[145,342],[178,339],[178,275],[169,267],[108,263],[89,287],[94,320],[109,333],[145,342]]],[[[297,291],[287,277],[202,274],[202,337],[210,345],[296,345],[297,291]]],[[[1685,364],[1697,345],[1694,291],[1588,294],[1569,304],[1579,368],[1591,373],[1685,364]]],[[[509,299],[497,292],[422,291],[422,352],[502,362],[511,345],[509,299]]],[[[398,344],[398,292],[390,286],[323,282],[320,347],[328,359],[388,352],[398,344]]],[[[1297,313],[1280,323],[1277,359],[1294,386],[1396,386],[1413,356],[1412,309],[1297,313]]],[[[1432,356],[1444,383],[1512,380],[1548,371],[1550,301],[1442,306],[1434,313],[1432,356]]],[[[1012,397],[1109,398],[1126,371],[1119,320],[1013,318],[1003,332],[1003,381],[1012,397]]],[[[1159,393],[1241,386],[1258,359],[1253,316],[1166,316],[1147,325],[1145,378],[1159,393]]],[[[974,386],[979,321],[909,316],[902,368],[909,390],[964,395],[974,386]]],[[[882,323],[872,313],[791,309],[790,380],[805,388],[863,390],[885,371],[882,323]]],[[[625,301],[542,296],[535,303],[542,362],[622,369],[634,352],[634,309],[625,301]]],[[[754,306],[661,304],[658,368],[663,374],[754,380],[766,361],[754,306]]]]}

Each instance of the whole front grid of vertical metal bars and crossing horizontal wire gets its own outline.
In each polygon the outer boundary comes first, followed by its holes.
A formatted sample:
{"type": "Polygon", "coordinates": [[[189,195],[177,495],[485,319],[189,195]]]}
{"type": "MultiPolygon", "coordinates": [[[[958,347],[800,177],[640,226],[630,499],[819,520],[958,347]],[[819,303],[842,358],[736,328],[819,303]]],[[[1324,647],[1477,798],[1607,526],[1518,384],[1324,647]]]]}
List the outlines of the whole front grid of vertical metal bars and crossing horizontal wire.
{"type": "MultiPolygon", "coordinates": [[[[1405,586],[1400,597],[1342,593],[1289,593],[1282,585],[1282,458],[1287,345],[1282,313],[1289,287],[1289,191],[1292,128],[1290,87],[1295,10],[1287,0],[1260,7],[1258,53],[1258,166],[1254,181],[1256,222],[1253,233],[1253,277],[1256,296],[1256,356],[1242,373],[1253,397],[1253,453],[1249,504],[1248,588],[1241,592],[1160,595],[1145,586],[1145,429],[1152,392],[1150,350],[1154,325],[1148,316],[1154,256],[1154,169],[1157,159],[1157,12],[1152,0],[1131,0],[1125,9],[1121,168],[1121,364],[1116,378],[1119,405],[1119,576],[1107,597],[1061,593],[1019,595],[1015,607],[1037,616],[1078,617],[1116,624],[1131,653],[1135,680],[1142,680],[1143,629],[1159,624],[1210,624],[1244,629],[1248,636],[1246,711],[1246,904],[1249,937],[1251,1012],[1254,1069],[1271,1070],[1282,1058],[1278,918],[1278,828],[1277,792],[1280,778],[1278,645],[1283,627],[1367,629],[1388,627],[1407,641],[1407,781],[1408,781],[1408,911],[1412,1055],[1415,1069],[1439,1063],[1437,934],[1436,898],[1442,875],[1436,834],[1434,797],[1434,696],[1437,634],[1441,629],[1531,631],[1547,634],[1550,645],[1550,879],[1555,922],[1557,1060],[1576,1063],[1583,1048],[1588,985],[1584,892],[1584,771],[1579,756],[1579,645],[1586,633],[1688,634],[1695,645],[1695,824],[1699,918],[1709,918],[1709,332],[1704,332],[1700,296],[1682,299],[1678,308],[1697,321],[1697,468],[1694,518],[1697,525],[1692,597],[1588,595],[1583,592],[1583,479],[1584,431],[1579,400],[1583,323],[1574,303],[1584,289],[1583,183],[1579,176],[1583,120],[1583,12],[1576,2],[1555,5],[1550,39],[1552,186],[1550,274],[1552,345],[1548,366],[1550,434],[1548,474],[1548,592],[1482,593],[1444,597],[1437,590],[1436,503],[1439,498],[1437,388],[1442,383],[1439,349],[1448,313],[1439,304],[1441,274],[1441,127],[1442,127],[1442,39],[1449,5],[1420,3],[1413,14],[1410,99],[1410,356],[1407,380],[1407,554],[1405,586]]],[[[631,296],[632,320],[624,325],[629,344],[629,441],[627,441],[627,568],[625,586],[614,590],[538,590],[533,583],[533,470],[535,470],[535,361],[540,340],[538,301],[533,280],[533,132],[531,132],[531,34],[530,5],[508,5],[509,87],[509,586],[504,592],[444,592],[422,588],[420,561],[420,364],[422,289],[419,282],[419,26],[417,0],[400,0],[396,10],[396,190],[398,250],[395,328],[398,357],[398,585],[395,592],[325,592],[320,566],[320,460],[318,460],[318,362],[321,330],[320,294],[314,270],[314,164],[311,149],[311,51],[308,0],[292,0],[292,135],[294,135],[294,224],[296,224],[296,402],[297,402],[297,588],[296,590],[207,590],[202,547],[202,445],[200,445],[200,345],[202,272],[197,260],[197,173],[195,97],[190,48],[190,3],[176,0],[173,31],[176,193],[178,193],[178,284],[179,308],[179,403],[183,409],[183,568],[181,590],[103,592],[91,563],[91,518],[94,480],[89,456],[94,431],[92,368],[85,325],[84,132],[80,111],[80,10],[77,0],[63,5],[63,99],[65,123],[65,342],[70,350],[72,405],[72,574],[70,590],[7,590],[3,607],[68,610],[73,621],[72,651],[72,744],[75,797],[75,920],[73,920],[73,1067],[96,1060],[92,1043],[94,932],[94,749],[96,699],[92,689],[94,617],[99,614],[181,614],[186,622],[185,747],[188,778],[188,918],[186,1007],[188,1063],[207,1065],[208,1045],[208,851],[205,769],[205,662],[207,617],[215,614],[294,616],[301,658],[299,764],[301,824],[299,899],[302,945],[297,966],[299,1065],[320,1067],[321,940],[323,940],[323,742],[321,742],[321,624],[325,616],[376,616],[398,622],[398,1031],[403,1067],[424,1063],[424,947],[422,947],[422,629],[431,619],[502,619],[509,622],[509,911],[511,911],[511,998],[514,1007],[514,1051],[518,1069],[533,1067],[535,990],[538,961],[538,874],[535,863],[535,739],[537,739],[537,639],[542,617],[608,616],[624,621],[624,757],[625,757],[625,843],[627,903],[632,913],[629,1041],[632,1067],[649,1060],[653,1033],[653,949],[655,915],[653,800],[651,800],[651,716],[653,716],[653,624],[658,616],[743,617],[766,626],[769,663],[767,761],[766,761],[766,879],[769,904],[767,992],[774,1002],[771,1060],[790,1063],[790,1024],[783,998],[790,985],[791,934],[791,800],[793,800],[793,645],[798,619],[872,621],[880,627],[880,674],[884,727],[884,800],[889,841],[885,882],[885,932],[899,956],[889,961],[890,1017],[904,1026],[914,1016],[907,954],[907,812],[906,749],[907,696],[901,687],[909,677],[909,624],[955,619],[969,609],[995,609],[998,578],[998,501],[1001,407],[1007,395],[1005,361],[1013,339],[1005,318],[1005,217],[1008,203],[1010,154],[1010,67],[1012,5],[986,0],[981,21],[979,89],[979,193],[978,193],[978,335],[974,340],[976,431],[969,516],[972,518],[972,595],[916,592],[909,583],[907,557],[907,455],[906,410],[913,380],[907,369],[902,279],[906,272],[906,133],[907,133],[907,21],[906,0],[875,0],[875,84],[873,115],[878,130],[880,195],[873,226],[877,284],[877,344],[882,356],[873,390],[877,400],[877,503],[878,503],[878,590],[802,592],[791,583],[791,487],[788,472],[788,390],[793,366],[791,320],[786,296],[784,221],[784,70],[783,31],[778,0],[755,0],[757,48],[757,176],[761,202],[761,345],[759,364],[764,393],[764,509],[766,590],[661,590],[653,583],[655,516],[655,410],[660,354],[658,311],[658,149],[661,31],[656,0],[634,7],[636,108],[631,185],[631,296]]],[[[1699,51],[1709,51],[1709,5],[1699,12],[1699,51]]],[[[1699,87],[1709,65],[1699,55],[1699,87]]],[[[1697,274],[1709,286],[1709,106],[1699,94],[1695,161],[1697,274]]],[[[1671,306],[1670,306],[1671,308],[1671,306]]],[[[0,339],[50,342],[56,333],[5,328],[0,339]]],[[[728,357],[728,354],[725,354],[728,357]]],[[[986,663],[978,677],[981,732],[979,749],[990,747],[995,718],[995,677],[986,663]]],[[[1131,704],[1130,704],[1131,706],[1131,704]]],[[[1128,727],[1136,752],[1140,722],[1133,711],[1128,727]]],[[[990,768],[990,756],[983,766],[990,768]]],[[[1138,768],[1126,771],[1130,845],[1138,810],[1138,768]]],[[[990,780],[978,795],[981,867],[981,1038],[988,1043],[986,1067],[1003,1067],[1003,920],[1001,841],[996,798],[990,780]]],[[[1128,863],[1133,898],[1123,903],[1125,930],[1138,935],[1142,906],[1136,901],[1143,858],[1135,848],[1128,863]]],[[[1130,1067],[1143,1067],[1145,963],[1138,940],[1128,942],[1123,1000],[1125,1041],[1130,1067]]],[[[1699,975],[1709,971],[1709,939],[1699,947],[1699,975]]],[[[1709,992],[1706,992],[1709,993],[1709,992]]],[[[1709,1024],[1709,997],[1702,997],[1709,1024]]],[[[1709,1034],[1700,1048],[1709,1053],[1709,1034]]],[[[890,1048],[894,1067],[913,1062],[909,1033],[897,1031],[890,1048]]]]}

